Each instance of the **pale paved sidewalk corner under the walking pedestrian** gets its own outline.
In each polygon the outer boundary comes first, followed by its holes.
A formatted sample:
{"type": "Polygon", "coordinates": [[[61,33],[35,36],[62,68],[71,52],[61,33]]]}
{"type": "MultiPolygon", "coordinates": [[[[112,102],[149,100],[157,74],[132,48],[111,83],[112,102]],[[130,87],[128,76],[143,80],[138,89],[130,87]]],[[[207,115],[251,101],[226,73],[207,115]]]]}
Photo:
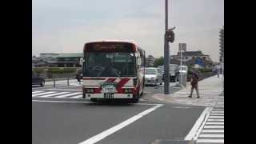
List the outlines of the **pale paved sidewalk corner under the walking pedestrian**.
{"type": "Polygon", "coordinates": [[[198,82],[200,98],[196,98],[197,94],[194,90],[192,98],[188,98],[190,94],[190,83],[186,87],[173,94],[154,94],[153,98],[165,102],[174,102],[194,106],[215,106],[224,107],[224,96],[220,96],[223,90],[222,75],[206,78],[198,82]]]}

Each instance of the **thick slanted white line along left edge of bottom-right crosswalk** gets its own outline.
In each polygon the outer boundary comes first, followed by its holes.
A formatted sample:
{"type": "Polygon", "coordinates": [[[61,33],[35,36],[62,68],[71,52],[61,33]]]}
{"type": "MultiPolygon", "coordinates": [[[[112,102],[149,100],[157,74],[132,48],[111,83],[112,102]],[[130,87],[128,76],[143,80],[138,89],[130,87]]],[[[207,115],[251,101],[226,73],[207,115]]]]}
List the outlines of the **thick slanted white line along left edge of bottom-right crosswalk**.
{"type": "Polygon", "coordinates": [[[202,111],[202,114],[200,115],[198,120],[194,123],[194,126],[190,130],[189,134],[186,135],[186,138],[185,138],[186,141],[190,141],[192,140],[192,138],[197,137],[199,135],[199,132],[202,129],[203,123],[206,122],[207,117],[209,117],[210,111],[212,109],[213,108],[211,107],[206,107],[206,109],[202,111]]]}

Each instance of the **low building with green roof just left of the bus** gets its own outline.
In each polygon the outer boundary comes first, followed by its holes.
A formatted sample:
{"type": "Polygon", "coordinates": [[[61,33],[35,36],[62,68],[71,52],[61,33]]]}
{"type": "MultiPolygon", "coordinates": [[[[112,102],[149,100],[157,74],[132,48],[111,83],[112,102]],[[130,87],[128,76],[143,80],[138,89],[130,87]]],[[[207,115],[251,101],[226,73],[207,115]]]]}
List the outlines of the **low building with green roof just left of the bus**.
{"type": "Polygon", "coordinates": [[[58,67],[81,67],[80,58],[83,58],[82,53],[62,53],[57,56],[58,67]]]}

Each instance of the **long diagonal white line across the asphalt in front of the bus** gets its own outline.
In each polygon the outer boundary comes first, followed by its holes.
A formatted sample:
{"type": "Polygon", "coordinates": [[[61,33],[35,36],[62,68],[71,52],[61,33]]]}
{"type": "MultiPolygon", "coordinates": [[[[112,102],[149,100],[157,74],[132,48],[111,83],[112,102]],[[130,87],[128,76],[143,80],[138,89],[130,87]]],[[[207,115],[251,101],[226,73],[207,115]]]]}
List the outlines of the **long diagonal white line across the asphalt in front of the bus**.
{"type": "Polygon", "coordinates": [[[96,143],[96,142],[102,140],[103,138],[106,138],[110,134],[114,134],[116,131],[121,130],[123,127],[130,125],[130,123],[135,122],[136,120],[138,120],[139,118],[142,118],[146,114],[149,114],[150,112],[158,109],[158,107],[160,107],[160,106],[162,106],[162,104],[158,104],[157,106],[154,106],[154,107],[152,107],[148,110],[144,110],[144,111],[142,111],[142,113],[134,115],[132,118],[129,118],[126,121],[121,122],[118,125],[113,126],[110,129],[105,130],[102,133],[97,134],[92,138],[86,139],[86,141],[84,141],[84,142],[79,142],[79,144],[93,144],[93,143],[96,143]]]}

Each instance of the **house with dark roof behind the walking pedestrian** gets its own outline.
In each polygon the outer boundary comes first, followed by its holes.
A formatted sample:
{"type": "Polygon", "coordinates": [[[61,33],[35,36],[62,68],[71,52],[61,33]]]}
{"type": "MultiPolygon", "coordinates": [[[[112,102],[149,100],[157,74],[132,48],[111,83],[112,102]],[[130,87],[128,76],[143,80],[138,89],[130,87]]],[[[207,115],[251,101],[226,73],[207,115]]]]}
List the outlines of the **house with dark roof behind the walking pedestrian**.
{"type": "Polygon", "coordinates": [[[204,68],[211,68],[213,66],[213,61],[207,54],[202,54],[202,51],[184,51],[182,52],[182,58],[180,52],[177,55],[170,56],[170,63],[180,65],[182,59],[182,65],[191,66],[202,66],[204,68]]]}

